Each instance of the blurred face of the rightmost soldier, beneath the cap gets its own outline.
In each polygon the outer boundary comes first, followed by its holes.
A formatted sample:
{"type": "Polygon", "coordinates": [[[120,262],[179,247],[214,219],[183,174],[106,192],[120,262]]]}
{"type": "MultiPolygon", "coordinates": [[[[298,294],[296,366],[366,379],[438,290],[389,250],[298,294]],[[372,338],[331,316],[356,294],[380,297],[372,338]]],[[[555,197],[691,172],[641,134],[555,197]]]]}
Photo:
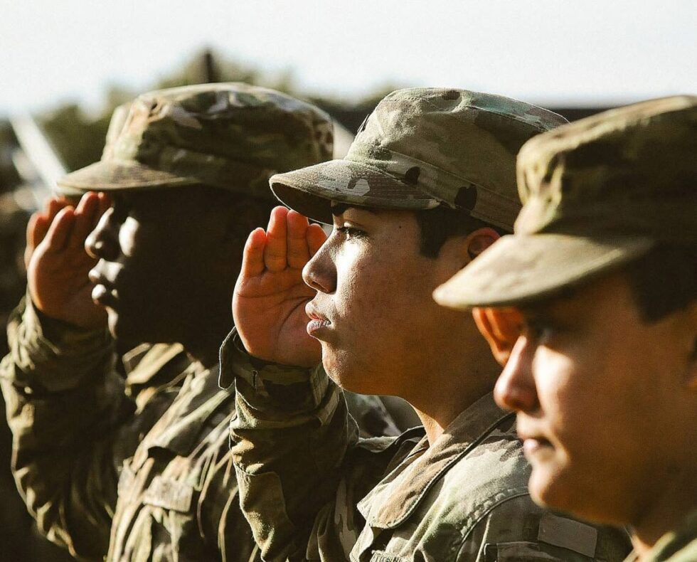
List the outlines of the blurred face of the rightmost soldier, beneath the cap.
{"type": "Polygon", "coordinates": [[[536,501],[637,524],[694,482],[697,305],[644,323],[618,273],[520,312],[495,397],[518,412],[536,501]]]}

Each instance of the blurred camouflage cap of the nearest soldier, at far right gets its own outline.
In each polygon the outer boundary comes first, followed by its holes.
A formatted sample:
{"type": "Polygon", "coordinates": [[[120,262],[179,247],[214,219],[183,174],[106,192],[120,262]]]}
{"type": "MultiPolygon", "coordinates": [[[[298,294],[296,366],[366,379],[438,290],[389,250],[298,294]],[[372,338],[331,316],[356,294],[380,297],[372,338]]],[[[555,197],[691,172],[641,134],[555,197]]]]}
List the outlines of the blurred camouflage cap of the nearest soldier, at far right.
{"type": "Polygon", "coordinates": [[[531,139],[518,155],[523,210],[434,292],[448,307],[554,295],[647,253],[697,245],[697,96],[600,113],[531,139]]]}

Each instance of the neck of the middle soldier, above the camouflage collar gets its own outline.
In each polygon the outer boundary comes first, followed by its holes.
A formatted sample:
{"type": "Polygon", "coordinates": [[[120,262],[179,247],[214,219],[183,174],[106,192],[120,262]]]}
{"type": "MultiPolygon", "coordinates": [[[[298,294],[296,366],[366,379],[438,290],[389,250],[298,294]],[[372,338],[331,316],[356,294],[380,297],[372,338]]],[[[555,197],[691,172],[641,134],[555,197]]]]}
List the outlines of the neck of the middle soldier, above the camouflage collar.
{"type": "MultiPolygon", "coordinates": [[[[460,340],[460,343],[464,341],[460,340]]],[[[429,445],[433,445],[460,413],[494,389],[496,377],[501,372],[501,367],[491,357],[491,351],[479,337],[469,352],[464,345],[459,349],[436,351],[437,361],[422,370],[414,392],[403,396],[416,410],[429,445]]]]}

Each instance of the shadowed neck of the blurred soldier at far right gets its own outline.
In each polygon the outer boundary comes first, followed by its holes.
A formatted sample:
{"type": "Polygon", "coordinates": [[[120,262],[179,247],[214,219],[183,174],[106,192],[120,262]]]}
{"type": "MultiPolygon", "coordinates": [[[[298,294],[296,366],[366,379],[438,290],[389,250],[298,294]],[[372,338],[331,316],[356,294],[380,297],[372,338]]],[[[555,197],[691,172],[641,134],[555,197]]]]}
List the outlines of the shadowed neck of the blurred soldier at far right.
{"type": "Polygon", "coordinates": [[[696,509],[697,462],[681,466],[679,474],[667,480],[668,487],[632,526],[632,545],[642,559],[654,544],[670,531],[676,531],[683,519],[696,509]]]}

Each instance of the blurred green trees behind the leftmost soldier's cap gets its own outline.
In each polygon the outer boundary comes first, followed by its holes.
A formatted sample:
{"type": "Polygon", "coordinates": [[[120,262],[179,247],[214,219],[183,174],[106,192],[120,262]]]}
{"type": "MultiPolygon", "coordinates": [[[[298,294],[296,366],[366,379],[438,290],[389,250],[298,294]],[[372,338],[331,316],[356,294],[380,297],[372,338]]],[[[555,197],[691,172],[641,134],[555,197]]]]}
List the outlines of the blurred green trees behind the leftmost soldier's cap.
{"type": "MultiPolygon", "coordinates": [[[[351,131],[358,128],[363,118],[373,110],[385,93],[396,88],[392,86],[380,88],[377,92],[355,103],[307,96],[297,90],[290,71],[269,76],[257,68],[250,68],[206,50],[196,53],[173,73],[160,78],[147,89],[172,88],[206,82],[246,82],[304,97],[329,112],[351,131]]],[[[105,105],[97,115],[88,115],[79,105],[69,104],[39,117],[55,150],[68,169],[82,168],[100,159],[113,110],[117,105],[132,100],[139,93],[119,85],[110,85],[107,88],[105,105]]]]}

